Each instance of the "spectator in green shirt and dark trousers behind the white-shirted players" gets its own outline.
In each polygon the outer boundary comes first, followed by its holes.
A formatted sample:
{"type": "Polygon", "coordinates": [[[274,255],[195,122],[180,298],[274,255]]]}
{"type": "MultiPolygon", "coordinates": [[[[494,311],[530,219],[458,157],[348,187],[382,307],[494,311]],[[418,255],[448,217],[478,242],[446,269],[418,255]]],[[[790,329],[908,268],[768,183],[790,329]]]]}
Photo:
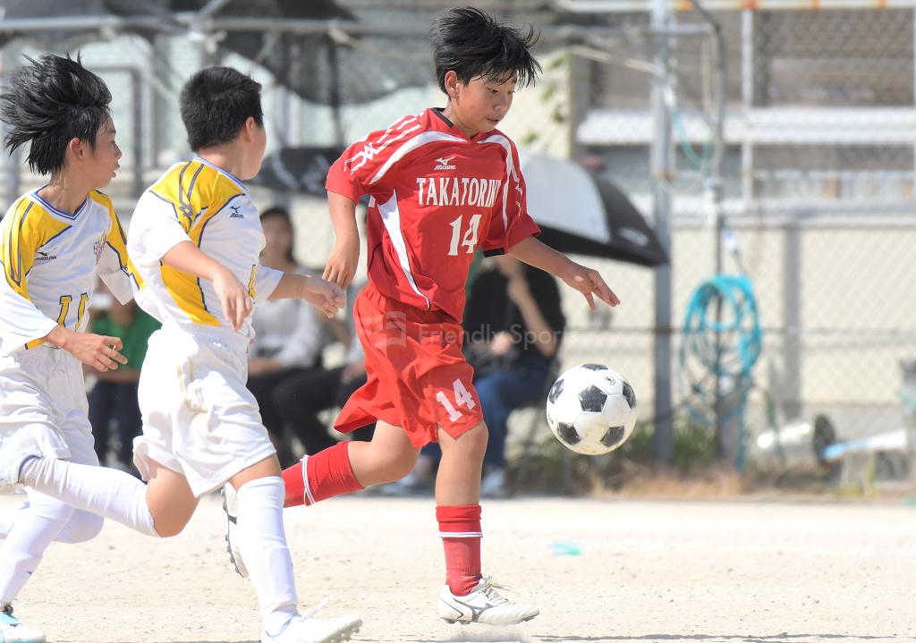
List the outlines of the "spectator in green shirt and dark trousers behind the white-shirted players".
{"type": "Polygon", "coordinates": [[[140,381],[140,365],[147,354],[147,341],[158,330],[159,322],[140,310],[134,300],[120,303],[104,291],[104,286],[96,290],[93,307],[91,332],[120,337],[124,342],[122,354],[127,358],[127,364],[115,371],[92,371],[95,384],[88,398],[95,453],[99,462],[105,464],[111,450],[115,460],[113,466],[133,471],[134,438],[142,430],[136,387],[140,381]],[[113,423],[116,432],[112,431],[113,423]]]}

